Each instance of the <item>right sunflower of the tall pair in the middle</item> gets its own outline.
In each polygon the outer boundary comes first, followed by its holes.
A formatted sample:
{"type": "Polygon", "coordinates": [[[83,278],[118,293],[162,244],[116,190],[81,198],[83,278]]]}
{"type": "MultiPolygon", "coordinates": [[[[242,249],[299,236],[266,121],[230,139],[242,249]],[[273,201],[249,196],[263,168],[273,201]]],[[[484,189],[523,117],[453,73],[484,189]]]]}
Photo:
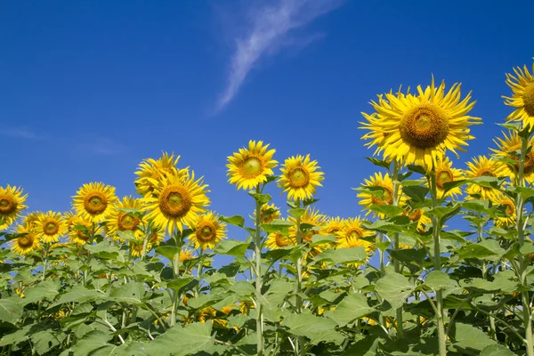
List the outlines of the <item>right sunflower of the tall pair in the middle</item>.
{"type": "Polygon", "coordinates": [[[289,199],[312,198],[317,187],[322,187],[323,173],[317,172],[317,161],[310,161],[310,155],[287,158],[280,168],[279,187],[287,192],[289,199]]]}

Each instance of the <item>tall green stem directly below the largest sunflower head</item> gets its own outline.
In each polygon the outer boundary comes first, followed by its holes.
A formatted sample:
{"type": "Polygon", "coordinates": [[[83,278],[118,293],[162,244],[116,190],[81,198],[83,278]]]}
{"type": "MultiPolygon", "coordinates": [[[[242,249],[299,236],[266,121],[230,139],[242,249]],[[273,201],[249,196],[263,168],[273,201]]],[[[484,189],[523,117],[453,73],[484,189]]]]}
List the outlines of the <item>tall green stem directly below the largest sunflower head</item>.
{"type": "MultiPolygon", "coordinates": [[[[432,174],[429,177],[429,190],[432,198],[432,207],[438,206],[438,192],[436,185],[436,172],[433,169],[432,174]]],[[[441,249],[440,249],[440,236],[441,236],[441,220],[436,216],[432,216],[433,226],[433,255],[434,255],[434,271],[441,271],[441,249]]],[[[438,340],[440,356],[447,355],[447,336],[445,335],[445,325],[443,322],[443,294],[441,289],[436,291],[436,327],[438,328],[438,340]]]]}

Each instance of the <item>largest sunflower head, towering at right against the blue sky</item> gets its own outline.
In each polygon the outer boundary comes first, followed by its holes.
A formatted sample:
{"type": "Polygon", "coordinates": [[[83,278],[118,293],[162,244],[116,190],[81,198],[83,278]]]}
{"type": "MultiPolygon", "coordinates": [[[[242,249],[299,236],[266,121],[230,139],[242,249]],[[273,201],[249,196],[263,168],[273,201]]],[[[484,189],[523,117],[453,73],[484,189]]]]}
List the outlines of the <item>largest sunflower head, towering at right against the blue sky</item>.
{"type": "Polygon", "coordinates": [[[398,160],[403,164],[424,166],[430,172],[436,165],[436,157],[445,150],[464,150],[466,140],[472,139],[469,125],[480,117],[470,117],[473,109],[471,93],[460,101],[459,84],[452,85],[445,93],[445,82],[425,90],[417,86],[417,95],[386,93],[371,101],[376,113],[362,113],[368,123],[362,128],[370,130],[364,140],[372,140],[366,146],[377,145],[377,153],[384,152],[385,160],[398,160]]]}

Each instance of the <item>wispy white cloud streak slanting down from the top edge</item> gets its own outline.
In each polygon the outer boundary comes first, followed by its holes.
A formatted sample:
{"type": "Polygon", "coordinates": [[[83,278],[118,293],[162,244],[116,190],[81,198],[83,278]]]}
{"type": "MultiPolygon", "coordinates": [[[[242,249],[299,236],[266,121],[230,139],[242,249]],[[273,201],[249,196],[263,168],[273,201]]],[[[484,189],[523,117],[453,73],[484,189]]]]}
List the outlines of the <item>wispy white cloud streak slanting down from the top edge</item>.
{"type": "Polygon", "coordinates": [[[236,50],[231,56],[228,82],[217,101],[223,109],[239,92],[248,72],[264,55],[279,53],[287,47],[308,45],[324,35],[290,38],[296,28],[302,28],[320,15],[331,12],[343,0],[279,0],[250,10],[250,23],[244,36],[235,38],[236,50]]]}

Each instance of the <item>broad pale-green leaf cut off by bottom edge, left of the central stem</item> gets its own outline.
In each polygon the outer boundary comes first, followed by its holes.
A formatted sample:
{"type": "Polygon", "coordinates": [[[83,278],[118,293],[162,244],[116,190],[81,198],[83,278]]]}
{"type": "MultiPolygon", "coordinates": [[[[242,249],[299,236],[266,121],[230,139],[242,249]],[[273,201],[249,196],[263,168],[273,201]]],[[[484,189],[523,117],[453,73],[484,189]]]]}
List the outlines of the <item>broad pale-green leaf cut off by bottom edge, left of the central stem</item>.
{"type": "Polygon", "coordinates": [[[147,353],[158,356],[186,356],[197,352],[210,354],[214,345],[211,329],[210,322],[170,328],[148,344],[147,353]]]}

